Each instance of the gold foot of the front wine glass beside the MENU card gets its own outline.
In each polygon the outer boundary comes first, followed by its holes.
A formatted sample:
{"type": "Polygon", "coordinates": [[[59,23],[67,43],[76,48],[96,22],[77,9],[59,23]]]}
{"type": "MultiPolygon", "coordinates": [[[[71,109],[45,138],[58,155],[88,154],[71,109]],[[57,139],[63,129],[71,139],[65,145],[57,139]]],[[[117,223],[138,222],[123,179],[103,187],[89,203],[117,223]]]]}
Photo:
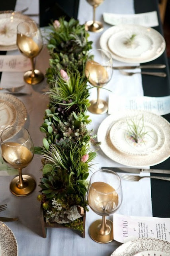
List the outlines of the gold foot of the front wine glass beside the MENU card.
{"type": "Polygon", "coordinates": [[[100,226],[102,220],[96,220],[90,225],[89,234],[90,237],[100,244],[107,244],[113,241],[113,222],[111,220],[106,220],[107,226],[109,226],[109,232],[107,234],[100,234],[100,226]]]}

